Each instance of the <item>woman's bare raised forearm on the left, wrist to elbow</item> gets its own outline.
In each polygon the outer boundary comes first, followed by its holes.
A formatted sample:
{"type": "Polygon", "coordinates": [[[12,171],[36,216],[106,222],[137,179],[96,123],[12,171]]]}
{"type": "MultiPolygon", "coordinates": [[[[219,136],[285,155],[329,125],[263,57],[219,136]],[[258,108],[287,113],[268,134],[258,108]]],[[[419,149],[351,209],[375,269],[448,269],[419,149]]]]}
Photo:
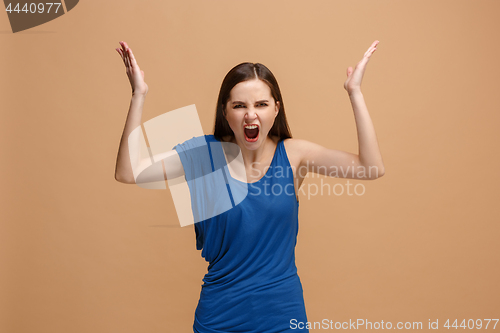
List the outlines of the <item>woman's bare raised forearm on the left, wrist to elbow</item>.
{"type": "MultiPolygon", "coordinates": [[[[142,109],[146,99],[145,94],[132,94],[132,99],[130,101],[130,108],[127,114],[127,120],[125,122],[125,127],[123,129],[122,138],[120,140],[120,146],[118,149],[118,156],[116,158],[116,168],[115,168],[115,179],[122,183],[135,183],[134,173],[132,171],[132,164],[130,161],[129,153],[129,135],[130,133],[141,126],[142,121],[142,109]]],[[[137,137],[139,139],[139,137],[137,137]]],[[[140,142],[132,145],[133,149],[140,149],[140,142]]],[[[137,152],[136,156],[139,156],[137,152]]],[[[137,166],[136,166],[137,167],[137,166]]]]}

